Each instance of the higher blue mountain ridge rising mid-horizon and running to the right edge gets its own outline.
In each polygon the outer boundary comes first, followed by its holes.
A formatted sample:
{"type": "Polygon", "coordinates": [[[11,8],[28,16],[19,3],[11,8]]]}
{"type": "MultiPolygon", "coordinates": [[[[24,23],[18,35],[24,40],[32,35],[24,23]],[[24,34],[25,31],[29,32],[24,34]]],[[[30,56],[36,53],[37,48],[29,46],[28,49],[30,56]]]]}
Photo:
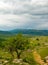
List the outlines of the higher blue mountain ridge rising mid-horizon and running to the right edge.
{"type": "Polygon", "coordinates": [[[32,34],[32,35],[48,35],[48,30],[33,30],[33,29],[15,29],[10,31],[12,34],[32,34]]]}

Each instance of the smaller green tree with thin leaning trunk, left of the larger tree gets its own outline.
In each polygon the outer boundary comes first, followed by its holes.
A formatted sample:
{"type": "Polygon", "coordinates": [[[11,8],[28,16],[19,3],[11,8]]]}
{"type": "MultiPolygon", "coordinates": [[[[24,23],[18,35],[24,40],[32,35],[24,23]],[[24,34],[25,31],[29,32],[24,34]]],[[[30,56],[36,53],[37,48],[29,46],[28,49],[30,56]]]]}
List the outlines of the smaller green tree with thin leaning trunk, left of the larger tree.
{"type": "Polygon", "coordinates": [[[5,51],[8,51],[11,55],[12,55],[12,58],[14,58],[14,38],[13,37],[10,37],[8,38],[6,41],[3,42],[3,48],[5,49],[5,51]]]}

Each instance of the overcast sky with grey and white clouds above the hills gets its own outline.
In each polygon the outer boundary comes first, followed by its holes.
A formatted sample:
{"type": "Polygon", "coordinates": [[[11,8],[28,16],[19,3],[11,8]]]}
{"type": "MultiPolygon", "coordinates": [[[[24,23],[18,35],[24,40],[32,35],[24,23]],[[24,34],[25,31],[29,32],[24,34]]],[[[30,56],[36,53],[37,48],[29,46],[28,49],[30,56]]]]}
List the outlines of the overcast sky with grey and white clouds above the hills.
{"type": "Polygon", "coordinates": [[[0,30],[48,29],[48,0],[0,0],[0,30]]]}

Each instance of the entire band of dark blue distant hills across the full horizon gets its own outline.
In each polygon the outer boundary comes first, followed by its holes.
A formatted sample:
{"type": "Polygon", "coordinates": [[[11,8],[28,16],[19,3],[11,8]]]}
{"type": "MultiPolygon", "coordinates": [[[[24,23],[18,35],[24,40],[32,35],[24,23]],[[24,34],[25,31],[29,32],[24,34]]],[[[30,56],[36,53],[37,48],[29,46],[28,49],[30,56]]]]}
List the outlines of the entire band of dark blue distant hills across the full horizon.
{"type": "Polygon", "coordinates": [[[11,31],[0,31],[0,34],[4,35],[14,35],[18,33],[48,36],[48,30],[14,29],[11,31]]]}

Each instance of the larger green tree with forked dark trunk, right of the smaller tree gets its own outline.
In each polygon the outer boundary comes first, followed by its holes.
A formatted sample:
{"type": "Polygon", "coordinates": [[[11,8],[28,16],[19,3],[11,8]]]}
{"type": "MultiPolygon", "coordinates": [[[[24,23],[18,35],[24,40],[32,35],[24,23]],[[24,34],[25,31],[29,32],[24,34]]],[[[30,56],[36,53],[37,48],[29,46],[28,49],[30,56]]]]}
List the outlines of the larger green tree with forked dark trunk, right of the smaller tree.
{"type": "Polygon", "coordinates": [[[29,39],[23,36],[22,34],[18,34],[14,43],[16,45],[15,51],[17,53],[17,58],[19,59],[21,53],[29,48],[29,39]]]}

